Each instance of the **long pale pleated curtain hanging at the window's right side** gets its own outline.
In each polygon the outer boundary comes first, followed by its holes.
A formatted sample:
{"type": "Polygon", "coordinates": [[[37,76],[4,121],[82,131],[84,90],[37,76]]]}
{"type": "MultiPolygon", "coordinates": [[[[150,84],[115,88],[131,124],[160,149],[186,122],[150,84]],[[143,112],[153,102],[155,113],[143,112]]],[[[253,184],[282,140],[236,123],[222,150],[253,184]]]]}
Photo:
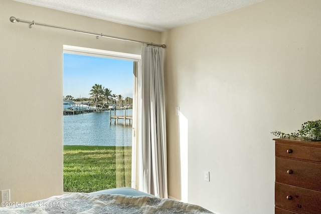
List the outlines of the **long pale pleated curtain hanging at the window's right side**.
{"type": "Polygon", "coordinates": [[[168,197],[163,48],[143,45],[137,74],[136,187],[168,197]]]}

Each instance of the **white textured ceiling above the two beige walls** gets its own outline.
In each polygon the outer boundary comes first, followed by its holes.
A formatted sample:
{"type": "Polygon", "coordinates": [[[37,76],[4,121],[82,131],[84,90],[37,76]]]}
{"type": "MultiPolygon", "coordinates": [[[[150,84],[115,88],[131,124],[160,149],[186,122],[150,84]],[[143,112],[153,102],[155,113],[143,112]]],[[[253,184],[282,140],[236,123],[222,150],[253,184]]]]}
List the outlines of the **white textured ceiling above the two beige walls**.
{"type": "Polygon", "coordinates": [[[14,1],[162,32],[264,0],[14,1]]]}

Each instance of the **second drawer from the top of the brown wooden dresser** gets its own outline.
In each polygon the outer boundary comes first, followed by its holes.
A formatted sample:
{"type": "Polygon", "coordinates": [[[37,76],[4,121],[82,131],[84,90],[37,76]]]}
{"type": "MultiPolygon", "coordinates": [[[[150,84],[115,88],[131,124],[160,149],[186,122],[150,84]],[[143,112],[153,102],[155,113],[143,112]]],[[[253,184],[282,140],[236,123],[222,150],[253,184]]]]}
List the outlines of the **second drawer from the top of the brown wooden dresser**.
{"type": "Polygon", "coordinates": [[[321,191],[321,163],[276,157],[275,181],[321,191]]]}

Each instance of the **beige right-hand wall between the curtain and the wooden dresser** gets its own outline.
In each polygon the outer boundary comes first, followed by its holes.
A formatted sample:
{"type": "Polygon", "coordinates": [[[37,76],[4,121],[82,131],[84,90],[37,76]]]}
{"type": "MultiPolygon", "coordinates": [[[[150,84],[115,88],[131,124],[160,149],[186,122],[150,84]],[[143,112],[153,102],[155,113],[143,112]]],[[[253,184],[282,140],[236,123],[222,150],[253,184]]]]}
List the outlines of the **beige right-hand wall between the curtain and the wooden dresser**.
{"type": "Polygon", "coordinates": [[[170,195],[188,191],[222,214],[274,213],[270,132],[321,118],[320,11],[319,0],[266,0],[162,34],[170,195]]]}

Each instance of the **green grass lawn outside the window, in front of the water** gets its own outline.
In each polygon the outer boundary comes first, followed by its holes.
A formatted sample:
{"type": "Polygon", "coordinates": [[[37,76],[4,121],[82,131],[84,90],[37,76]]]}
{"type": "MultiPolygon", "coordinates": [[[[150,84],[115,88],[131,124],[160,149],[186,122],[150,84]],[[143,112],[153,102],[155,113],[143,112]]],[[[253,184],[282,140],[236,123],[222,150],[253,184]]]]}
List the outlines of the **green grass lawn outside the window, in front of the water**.
{"type": "Polygon", "coordinates": [[[64,191],[131,186],[131,146],[64,146],[64,191]]]}

